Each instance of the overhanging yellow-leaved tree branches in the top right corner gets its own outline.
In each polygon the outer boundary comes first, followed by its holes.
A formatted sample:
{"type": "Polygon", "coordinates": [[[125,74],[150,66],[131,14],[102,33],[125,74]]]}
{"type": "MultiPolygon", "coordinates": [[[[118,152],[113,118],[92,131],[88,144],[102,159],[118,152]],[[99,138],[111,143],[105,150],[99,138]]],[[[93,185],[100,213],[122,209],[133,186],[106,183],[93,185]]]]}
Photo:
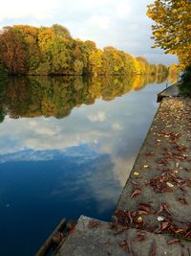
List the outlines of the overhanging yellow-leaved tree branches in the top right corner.
{"type": "Polygon", "coordinates": [[[147,15],[156,22],[152,26],[154,47],[177,55],[182,69],[190,66],[191,1],[155,0],[148,6],[147,15]]]}

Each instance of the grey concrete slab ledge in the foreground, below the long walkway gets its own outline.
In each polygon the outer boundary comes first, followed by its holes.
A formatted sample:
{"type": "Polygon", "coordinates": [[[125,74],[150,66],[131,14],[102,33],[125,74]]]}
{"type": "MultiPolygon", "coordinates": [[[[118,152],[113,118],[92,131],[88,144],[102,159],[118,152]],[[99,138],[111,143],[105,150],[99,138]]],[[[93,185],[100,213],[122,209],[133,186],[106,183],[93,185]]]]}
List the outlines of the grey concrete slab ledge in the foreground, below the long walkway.
{"type": "Polygon", "coordinates": [[[81,216],[55,256],[188,256],[190,252],[191,244],[185,241],[81,216]]]}

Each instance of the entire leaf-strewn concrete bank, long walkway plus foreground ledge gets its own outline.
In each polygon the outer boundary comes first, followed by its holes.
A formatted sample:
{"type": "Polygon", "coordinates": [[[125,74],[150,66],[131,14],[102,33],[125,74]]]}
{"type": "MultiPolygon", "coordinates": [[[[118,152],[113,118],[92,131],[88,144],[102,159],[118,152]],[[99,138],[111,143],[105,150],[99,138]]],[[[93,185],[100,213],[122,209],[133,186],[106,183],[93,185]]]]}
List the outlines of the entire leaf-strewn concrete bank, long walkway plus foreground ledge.
{"type": "Polygon", "coordinates": [[[111,223],[81,217],[56,256],[190,255],[191,101],[165,98],[111,223]]]}

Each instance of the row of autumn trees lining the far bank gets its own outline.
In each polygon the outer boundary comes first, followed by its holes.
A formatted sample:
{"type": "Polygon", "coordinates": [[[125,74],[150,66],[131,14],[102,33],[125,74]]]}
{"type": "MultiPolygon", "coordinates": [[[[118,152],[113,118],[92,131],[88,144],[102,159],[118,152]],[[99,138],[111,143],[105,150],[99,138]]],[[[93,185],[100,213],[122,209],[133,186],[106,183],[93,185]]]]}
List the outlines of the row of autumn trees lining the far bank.
{"type": "Polygon", "coordinates": [[[0,73],[10,75],[132,75],[167,73],[114,47],[96,48],[93,41],[74,39],[61,25],[15,25],[0,32],[0,73]]]}

